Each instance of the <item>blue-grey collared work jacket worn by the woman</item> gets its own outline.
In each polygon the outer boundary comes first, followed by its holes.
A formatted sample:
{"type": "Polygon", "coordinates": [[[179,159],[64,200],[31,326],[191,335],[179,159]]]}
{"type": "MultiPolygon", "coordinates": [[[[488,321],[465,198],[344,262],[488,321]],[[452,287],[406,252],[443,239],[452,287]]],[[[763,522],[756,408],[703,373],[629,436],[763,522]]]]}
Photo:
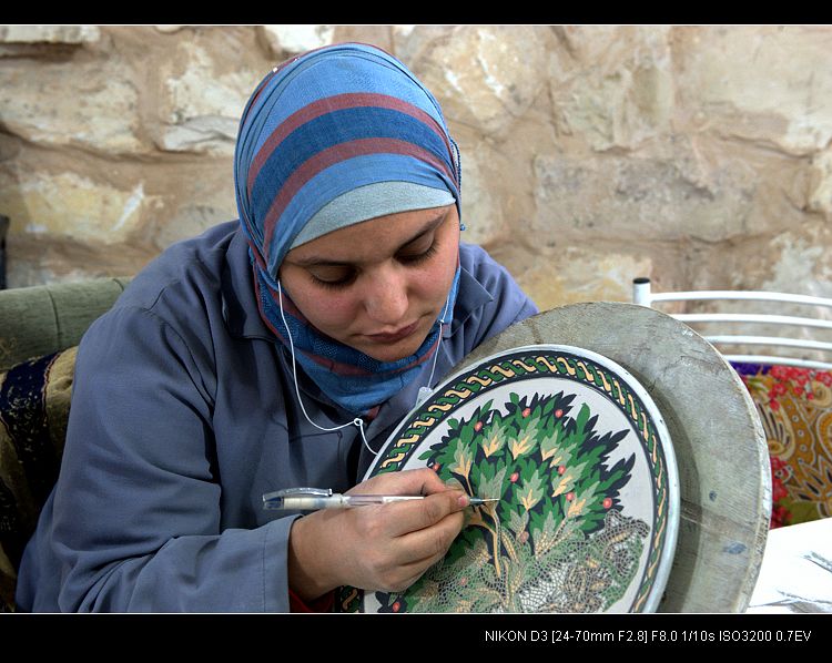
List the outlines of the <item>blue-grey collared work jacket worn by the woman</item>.
{"type": "MultiPolygon", "coordinates": [[[[436,376],[537,312],[505,268],[463,245],[436,376]]],[[[376,451],[425,376],[366,427],[376,451]]],[[[298,368],[306,411],[352,420],[298,368]]],[[[176,244],[81,341],[60,478],[19,572],[22,611],[287,612],[293,517],[264,492],[344,491],[373,455],[354,426],[303,416],[263,324],[236,222],[176,244]]]]}

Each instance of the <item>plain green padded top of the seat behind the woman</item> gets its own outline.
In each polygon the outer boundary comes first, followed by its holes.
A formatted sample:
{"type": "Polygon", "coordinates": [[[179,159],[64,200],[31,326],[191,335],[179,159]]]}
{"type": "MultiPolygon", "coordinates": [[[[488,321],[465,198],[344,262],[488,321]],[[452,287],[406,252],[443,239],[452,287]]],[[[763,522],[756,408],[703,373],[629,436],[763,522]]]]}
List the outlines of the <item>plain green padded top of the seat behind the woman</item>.
{"type": "Polygon", "coordinates": [[[0,290],[0,370],[78,345],[128,282],[97,278],[0,290]]]}

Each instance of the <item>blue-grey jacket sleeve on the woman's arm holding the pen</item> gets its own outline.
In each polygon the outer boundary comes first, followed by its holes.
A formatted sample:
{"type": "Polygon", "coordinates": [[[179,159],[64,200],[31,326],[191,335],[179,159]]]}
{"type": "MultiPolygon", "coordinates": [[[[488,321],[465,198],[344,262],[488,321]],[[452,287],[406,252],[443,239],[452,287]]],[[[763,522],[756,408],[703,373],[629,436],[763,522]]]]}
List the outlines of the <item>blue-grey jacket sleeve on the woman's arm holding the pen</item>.
{"type": "Polygon", "coordinates": [[[52,544],[62,611],[290,611],[292,518],[221,530],[211,380],[153,313],[79,349],[52,544]]]}

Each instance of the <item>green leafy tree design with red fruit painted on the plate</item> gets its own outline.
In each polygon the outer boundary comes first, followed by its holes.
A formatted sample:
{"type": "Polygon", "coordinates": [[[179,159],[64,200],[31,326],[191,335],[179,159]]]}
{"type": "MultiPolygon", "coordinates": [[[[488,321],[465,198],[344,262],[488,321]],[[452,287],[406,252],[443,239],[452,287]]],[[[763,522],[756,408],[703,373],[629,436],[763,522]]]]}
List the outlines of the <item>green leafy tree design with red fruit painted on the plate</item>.
{"type": "Polygon", "coordinates": [[[468,494],[499,498],[470,517],[445,559],[382,612],[596,612],[638,571],[648,526],[621,513],[636,456],[608,467],[628,430],[599,431],[576,395],[493,401],[419,459],[468,494]],[[575,411],[577,410],[577,411],[575,411]]]}

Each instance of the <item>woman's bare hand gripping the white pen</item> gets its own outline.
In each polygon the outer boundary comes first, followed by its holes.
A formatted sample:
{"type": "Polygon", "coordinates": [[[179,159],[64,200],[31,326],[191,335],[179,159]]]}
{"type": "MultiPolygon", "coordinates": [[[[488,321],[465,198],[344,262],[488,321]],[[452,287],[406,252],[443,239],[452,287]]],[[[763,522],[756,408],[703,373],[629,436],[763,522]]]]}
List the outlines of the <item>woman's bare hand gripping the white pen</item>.
{"type": "Polygon", "coordinates": [[[295,520],[288,583],[305,601],[341,585],[396,592],[447,552],[463,529],[468,497],[432,469],[378,475],[355,494],[425,494],[424,500],[316,511],[295,520]]]}

